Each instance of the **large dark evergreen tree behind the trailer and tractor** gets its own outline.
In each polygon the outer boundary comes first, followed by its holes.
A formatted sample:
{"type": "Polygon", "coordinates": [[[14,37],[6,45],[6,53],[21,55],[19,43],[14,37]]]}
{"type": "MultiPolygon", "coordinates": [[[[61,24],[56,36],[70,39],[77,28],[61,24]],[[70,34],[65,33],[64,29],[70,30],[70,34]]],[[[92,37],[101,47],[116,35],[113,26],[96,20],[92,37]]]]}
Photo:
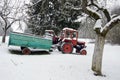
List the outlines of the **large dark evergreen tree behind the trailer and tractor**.
{"type": "Polygon", "coordinates": [[[29,28],[35,34],[42,34],[45,29],[56,32],[63,27],[77,29],[79,23],[74,20],[81,12],[70,7],[79,7],[80,3],[80,0],[32,0],[28,6],[29,28]]]}

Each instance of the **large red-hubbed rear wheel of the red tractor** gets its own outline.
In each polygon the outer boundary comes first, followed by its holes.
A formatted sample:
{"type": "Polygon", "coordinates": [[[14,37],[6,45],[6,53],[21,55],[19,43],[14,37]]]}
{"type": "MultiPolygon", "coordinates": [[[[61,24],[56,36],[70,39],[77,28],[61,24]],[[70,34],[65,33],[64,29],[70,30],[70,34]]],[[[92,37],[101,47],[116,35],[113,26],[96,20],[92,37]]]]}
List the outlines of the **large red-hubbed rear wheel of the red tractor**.
{"type": "Polygon", "coordinates": [[[71,43],[63,43],[61,46],[62,53],[72,53],[73,45],[71,43]]]}

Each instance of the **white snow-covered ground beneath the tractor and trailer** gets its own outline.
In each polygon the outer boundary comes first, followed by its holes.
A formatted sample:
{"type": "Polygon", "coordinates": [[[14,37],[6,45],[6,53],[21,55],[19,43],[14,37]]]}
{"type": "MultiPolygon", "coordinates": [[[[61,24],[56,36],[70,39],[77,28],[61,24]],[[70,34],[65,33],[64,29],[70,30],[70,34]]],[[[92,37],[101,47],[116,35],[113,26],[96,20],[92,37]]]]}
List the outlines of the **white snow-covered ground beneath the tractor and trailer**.
{"type": "Polygon", "coordinates": [[[0,44],[0,80],[120,80],[120,46],[105,45],[102,71],[106,77],[100,77],[91,71],[94,44],[86,42],[86,56],[57,50],[50,54],[12,54],[7,44],[0,44]]]}

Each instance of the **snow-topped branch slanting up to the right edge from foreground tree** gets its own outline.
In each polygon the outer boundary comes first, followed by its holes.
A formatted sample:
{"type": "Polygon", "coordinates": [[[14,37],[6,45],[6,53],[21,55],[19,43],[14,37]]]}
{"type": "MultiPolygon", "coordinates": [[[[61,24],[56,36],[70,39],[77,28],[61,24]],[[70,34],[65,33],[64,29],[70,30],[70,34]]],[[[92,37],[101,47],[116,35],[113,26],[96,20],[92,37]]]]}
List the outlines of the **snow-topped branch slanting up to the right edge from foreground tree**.
{"type": "Polygon", "coordinates": [[[101,33],[107,33],[111,28],[113,28],[116,24],[120,23],[120,16],[113,18],[109,21],[102,29],[101,33]]]}

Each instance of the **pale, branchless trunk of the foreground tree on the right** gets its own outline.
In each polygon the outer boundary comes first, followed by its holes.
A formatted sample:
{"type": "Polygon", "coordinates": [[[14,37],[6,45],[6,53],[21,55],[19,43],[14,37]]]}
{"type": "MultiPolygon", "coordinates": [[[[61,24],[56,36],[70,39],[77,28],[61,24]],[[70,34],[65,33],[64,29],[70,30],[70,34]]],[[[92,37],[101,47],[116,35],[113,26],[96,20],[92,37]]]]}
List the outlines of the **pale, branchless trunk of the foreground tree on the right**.
{"type": "Polygon", "coordinates": [[[92,70],[95,72],[96,75],[102,75],[101,70],[102,70],[102,56],[103,56],[104,44],[105,44],[105,36],[97,34],[94,54],[92,59],[92,70]]]}

